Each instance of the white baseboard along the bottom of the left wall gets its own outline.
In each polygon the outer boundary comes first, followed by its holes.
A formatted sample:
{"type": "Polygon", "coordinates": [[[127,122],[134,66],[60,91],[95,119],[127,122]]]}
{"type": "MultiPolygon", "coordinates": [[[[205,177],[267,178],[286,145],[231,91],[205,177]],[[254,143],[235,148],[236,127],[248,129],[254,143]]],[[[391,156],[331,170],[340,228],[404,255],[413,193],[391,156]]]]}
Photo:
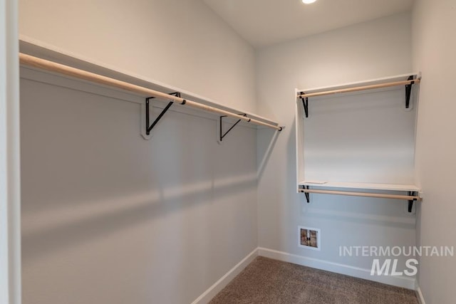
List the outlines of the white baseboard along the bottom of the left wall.
{"type": "Polygon", "coordinates": [[[228,285],[229,282],[232,281],[232,279],[237,276],[241,271],[244,270],[244,268],[249,265],[250,262],[254,260],[258,256],[258,248],[255,248],[254,251],[249,253],[245,258],[242,259],[239,263],[237,263],[236,266],[231,268],[222,278],[219,279],[219,281],[215,282],[214,285],[209,287],[202,295],[199,295],[199,297],[192,302],[192,304],[206,304],[212,298],[214,298],[217,293],[219,293],[223,288],[225,288],[226,285],[228,285]]]}

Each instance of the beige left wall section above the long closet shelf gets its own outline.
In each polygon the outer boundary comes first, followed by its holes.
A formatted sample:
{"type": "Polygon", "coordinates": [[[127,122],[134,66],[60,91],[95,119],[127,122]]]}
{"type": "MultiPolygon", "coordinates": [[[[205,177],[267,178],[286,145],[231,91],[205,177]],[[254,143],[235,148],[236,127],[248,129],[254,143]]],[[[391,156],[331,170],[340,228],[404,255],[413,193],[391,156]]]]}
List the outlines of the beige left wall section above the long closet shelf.
{"type": "Polygon", "coordinates": [[[255,111],[254,51],[199,0],[21,0],[21,36],[255,111]]]}

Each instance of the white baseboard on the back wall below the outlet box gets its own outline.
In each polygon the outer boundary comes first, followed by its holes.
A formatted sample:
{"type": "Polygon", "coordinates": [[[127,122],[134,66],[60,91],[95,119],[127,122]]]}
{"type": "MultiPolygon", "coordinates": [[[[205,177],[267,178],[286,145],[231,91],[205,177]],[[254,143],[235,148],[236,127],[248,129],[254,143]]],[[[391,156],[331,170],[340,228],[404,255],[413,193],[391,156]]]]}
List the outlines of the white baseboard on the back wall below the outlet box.
{"type": "Polygon", "coordinates": [[[408,276],[371,276],[371,269],[353,267],[341,263],[333,263],[329,261],[319,260],[318,258],[307,258],[305,256],[297,256],[295,254],[282,251],[275,251],[268,248],[258,248],[258,255],[266,258],[274,258],[275,260],[294,263],[311,268],[321,269],[323,271],[331,271],[333,273],[341,273],[355,278],[363,278],[370,281],[394,285],[402,288],[415,290],[415,278],[408,276]]]}

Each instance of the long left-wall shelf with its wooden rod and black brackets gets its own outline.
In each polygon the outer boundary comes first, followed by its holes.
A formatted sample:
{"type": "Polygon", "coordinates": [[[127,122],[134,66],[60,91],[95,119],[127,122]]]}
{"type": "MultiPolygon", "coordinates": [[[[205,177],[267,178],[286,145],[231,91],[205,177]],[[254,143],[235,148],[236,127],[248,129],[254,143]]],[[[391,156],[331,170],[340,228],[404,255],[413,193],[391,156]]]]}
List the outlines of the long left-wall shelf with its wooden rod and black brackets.
{"type": "Polygon", "coordinates": [[[150,139],[150,131],[173,104],[185,105],[185,108],[195,108],[197,110],[212,112],[219,115],[219,142],[222,142],[224,135],[227,135],[235,125],[242,121],[253,125],[269,127],[277,131],[281,131],[284,128],[273,120],[249,112],[229,108],[225,105],[220,105],[207,98],[202,98],[201,96],[186,92],[185,90],[172,88],[171,86],[162,83],[154,83],[122,71],[105,68],[103,65],[72,57],[56,50],[35,45],[28,41],[22,40],[20,42],[21,49],[26,50],[26,53],[19,53],[21,65],[26,65],[28,68],[48,71],[49,73],[56,73],[63,77],[95,83],[125,93],[133,93],[145,98],[145,111],[144,115],[142,115],[145,116],[145,123],[141,123],[141,125],[145,125],[145,130],[142,131],[142,133],[144,133],[142,136],[145,137],[145,139],[150,139]],[[32,54],[37,54],[38,56],[33,56],[32,54]],[[50,60],[47,60],[46,58],[50,60]],[[59,62],[57,62],[56,59],[59,62]],[[71,65],[63,64],[61,63],[62,61],[69,62],[71,65]],[[76,68],[74,65],[80,68],[76,68]],[[152,98],[167,101],[168,103],[153,122],[149,110],[150,100],[152,98]],[[224,117],[231,117],[237,120],[237,122],[235,122],[226,132],[223,132],[224,117]]]}

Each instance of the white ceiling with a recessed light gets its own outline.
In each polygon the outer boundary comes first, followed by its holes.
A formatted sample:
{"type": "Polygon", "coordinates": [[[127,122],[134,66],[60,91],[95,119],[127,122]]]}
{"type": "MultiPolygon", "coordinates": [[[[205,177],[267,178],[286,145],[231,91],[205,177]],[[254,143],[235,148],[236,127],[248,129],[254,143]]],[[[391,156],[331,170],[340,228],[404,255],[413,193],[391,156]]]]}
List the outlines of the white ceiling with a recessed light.
{"type": "Polygon", "coordinates": [[[413,5],[413,0],[202,1],[255,47],[398,14],[413,5]]]}

